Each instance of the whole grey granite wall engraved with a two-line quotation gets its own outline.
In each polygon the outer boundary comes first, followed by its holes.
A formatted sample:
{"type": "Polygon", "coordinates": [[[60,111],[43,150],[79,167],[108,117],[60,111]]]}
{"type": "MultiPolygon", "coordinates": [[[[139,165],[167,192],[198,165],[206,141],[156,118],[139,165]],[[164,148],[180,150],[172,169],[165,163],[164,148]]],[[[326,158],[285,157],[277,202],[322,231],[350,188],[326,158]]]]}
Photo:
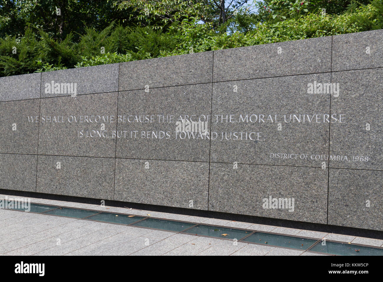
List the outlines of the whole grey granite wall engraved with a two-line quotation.
{"type": "Polygon", "coordinates": [[[383,230],[382,84],[383,30],[0,78],[0,188],[383,230]]]}

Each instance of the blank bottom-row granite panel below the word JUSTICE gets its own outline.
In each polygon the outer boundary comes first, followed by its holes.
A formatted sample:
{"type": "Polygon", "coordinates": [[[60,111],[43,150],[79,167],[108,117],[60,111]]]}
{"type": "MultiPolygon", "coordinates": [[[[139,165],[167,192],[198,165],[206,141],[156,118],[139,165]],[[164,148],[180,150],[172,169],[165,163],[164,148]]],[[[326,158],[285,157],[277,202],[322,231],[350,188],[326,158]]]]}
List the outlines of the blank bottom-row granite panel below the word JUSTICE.
{"type": "Polygon", "coordinates": [[[326,223],[327,168],[233,167],[210,164],[209,210],[326,223]]]}

